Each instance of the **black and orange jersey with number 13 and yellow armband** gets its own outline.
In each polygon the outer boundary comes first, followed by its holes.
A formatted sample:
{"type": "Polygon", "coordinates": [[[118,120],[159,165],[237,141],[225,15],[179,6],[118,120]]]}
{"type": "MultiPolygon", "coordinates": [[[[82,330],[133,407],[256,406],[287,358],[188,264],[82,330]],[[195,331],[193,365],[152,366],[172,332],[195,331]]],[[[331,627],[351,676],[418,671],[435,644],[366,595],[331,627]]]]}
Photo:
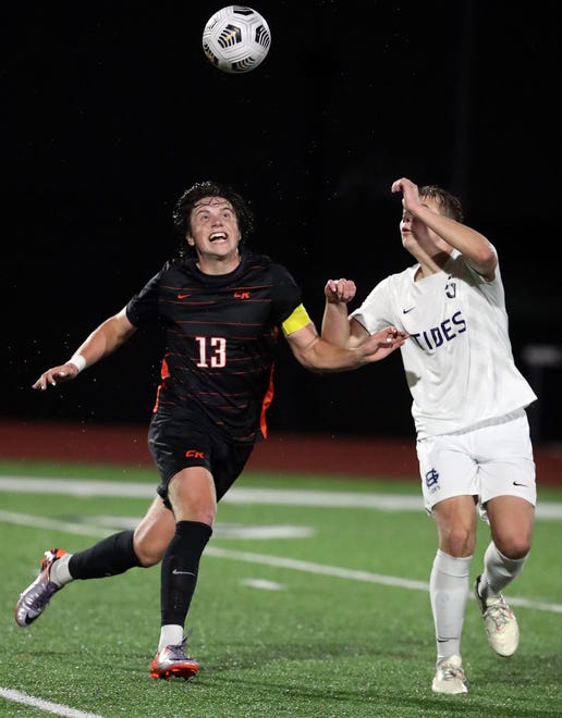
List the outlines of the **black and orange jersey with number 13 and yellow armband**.
{"type": "Polygon", "coordinates": [[[290,318],[288,333],[310,321],[284,267],[246,251],[233,272],[210,275],[194,258],[172,259],[126,314],[137,327],[164,329],[155,412],[203,422],[237,444],[266,437],[280,329],[290,318]]]}

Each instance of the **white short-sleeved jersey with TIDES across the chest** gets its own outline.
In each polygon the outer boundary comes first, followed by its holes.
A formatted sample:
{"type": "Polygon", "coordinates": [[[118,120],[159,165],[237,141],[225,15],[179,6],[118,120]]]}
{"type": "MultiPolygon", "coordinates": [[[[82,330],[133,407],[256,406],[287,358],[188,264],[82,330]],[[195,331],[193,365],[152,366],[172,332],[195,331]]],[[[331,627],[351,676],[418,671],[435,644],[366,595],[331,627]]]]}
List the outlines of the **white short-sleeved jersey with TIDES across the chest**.
{"type": "Polygon", "coordinates": [[[453,250],[437,274],[419,264],[382,280],[352,312],[370,334],[393,324],[417,438],[464,431],[537,399],[515,367],[500,268],[489,282],[453,250]]]}

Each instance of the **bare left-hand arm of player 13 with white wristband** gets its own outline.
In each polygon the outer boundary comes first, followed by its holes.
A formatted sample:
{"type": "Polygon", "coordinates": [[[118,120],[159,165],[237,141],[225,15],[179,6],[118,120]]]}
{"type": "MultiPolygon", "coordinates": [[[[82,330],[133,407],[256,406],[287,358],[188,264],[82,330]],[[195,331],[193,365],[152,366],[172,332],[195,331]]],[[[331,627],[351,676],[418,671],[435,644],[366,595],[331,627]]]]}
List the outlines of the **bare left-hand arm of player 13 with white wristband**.
{"type": "Polygon", "coordinates": [[[45,391],[49,385],[57,386],[59,383],[75,379],[85,367],[95,364],[102,357],[114,351],[135,332],[136,329],[129,321],[123,308],[94,330],[69,361],[45,371],[33,388],[45,391]]]}

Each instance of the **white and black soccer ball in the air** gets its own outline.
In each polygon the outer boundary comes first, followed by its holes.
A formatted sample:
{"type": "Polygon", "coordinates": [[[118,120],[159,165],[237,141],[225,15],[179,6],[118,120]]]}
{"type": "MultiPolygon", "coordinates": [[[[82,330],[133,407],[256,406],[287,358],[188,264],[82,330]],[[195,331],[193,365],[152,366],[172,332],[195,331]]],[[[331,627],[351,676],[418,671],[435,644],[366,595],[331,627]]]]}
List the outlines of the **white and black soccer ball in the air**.
{"type": "Polygon", "coordinates": [[[207,60],[224,72],[249,72],[264,62],[271,33],[264,17],[245,5],[228,5],[209,18],[203,32],[207,60]]]}

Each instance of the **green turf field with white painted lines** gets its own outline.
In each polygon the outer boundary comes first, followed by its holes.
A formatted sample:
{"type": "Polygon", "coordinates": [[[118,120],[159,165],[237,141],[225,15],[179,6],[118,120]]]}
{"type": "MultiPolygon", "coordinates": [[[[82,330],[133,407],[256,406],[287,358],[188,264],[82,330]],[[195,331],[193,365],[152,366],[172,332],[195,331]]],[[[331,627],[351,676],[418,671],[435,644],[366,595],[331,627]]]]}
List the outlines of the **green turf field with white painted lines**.
{"type": "MultiPolygon", "coordinates": [[[[0,461],[0,716],[562,716],[555,488],[539,487],[534,549],[508,593],[522,632],[515,656],[493,654],[476,603],[468,603],[466,695],[430,689],[427,581],[436,535],[416,482],[239,480],[201,559],[187,623],[201,668],[191,681],[148,673],[159,635],[158,567],[74,582],[35,624],[17,627],[14,603],[42,552],[77,550],[134,525],[156,483],[144,469],[0,461]]],[[[473,580],[487,543],[480,521],[473,580]]]]}

